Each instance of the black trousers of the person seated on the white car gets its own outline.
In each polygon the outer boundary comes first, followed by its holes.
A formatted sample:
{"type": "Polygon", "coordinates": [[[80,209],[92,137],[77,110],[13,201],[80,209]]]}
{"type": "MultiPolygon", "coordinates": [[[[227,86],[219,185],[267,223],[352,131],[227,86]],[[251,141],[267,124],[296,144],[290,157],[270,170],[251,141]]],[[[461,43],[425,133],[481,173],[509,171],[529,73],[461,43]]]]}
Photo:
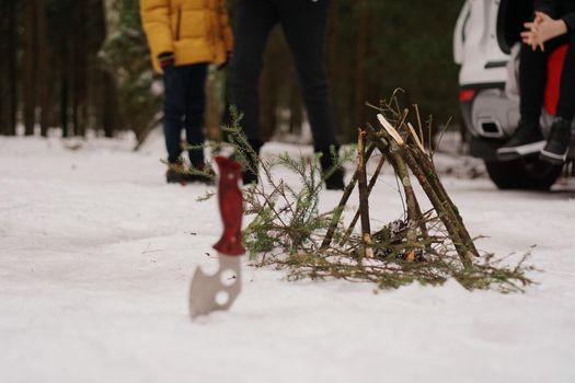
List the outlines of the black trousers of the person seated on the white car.
{"type": "Polygon", "coordinates": [[[561,72],[557,117],[573,119],[575,115],[575,31],[549,40],[545,50],[532,50],[522,44],[519,62],[520,111],[524,120],[539,123],[547,83],[549,55],[563,44],[568,44],[565,62],[561,72]]]}

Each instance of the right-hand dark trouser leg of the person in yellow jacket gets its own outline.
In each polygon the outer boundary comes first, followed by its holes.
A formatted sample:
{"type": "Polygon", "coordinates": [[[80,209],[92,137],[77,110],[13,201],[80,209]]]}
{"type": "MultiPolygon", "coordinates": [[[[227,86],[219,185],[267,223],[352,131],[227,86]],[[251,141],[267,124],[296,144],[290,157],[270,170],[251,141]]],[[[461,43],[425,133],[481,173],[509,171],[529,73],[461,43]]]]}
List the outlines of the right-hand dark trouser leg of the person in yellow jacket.
{"type": "MultiPolygon", "coordinates": [[[[207,63],[195,63],[182,68],[185,71],[185,119],[184,128],[189,146],[204,143],[204,123],[206,112],[206,76],[207,63]]],[[[188,150],[189,163],[196,167],[204,165],[204,150],[188,150]]]]}

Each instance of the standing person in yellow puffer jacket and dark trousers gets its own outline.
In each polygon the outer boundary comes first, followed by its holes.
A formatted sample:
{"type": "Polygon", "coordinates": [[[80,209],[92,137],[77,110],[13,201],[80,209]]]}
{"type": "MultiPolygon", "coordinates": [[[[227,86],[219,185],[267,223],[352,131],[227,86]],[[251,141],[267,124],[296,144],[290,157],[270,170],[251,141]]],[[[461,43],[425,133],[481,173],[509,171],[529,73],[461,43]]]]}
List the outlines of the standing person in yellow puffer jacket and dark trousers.
{"type": "MultiPolygon", "coordinates": [[[[208,182],[184,171],[181,135],[184,129],[189,146],[204,143],[208,66],[227,62],[232,50],[223,0],[140,0],[140,14],[153,68],[164,81],[166,182],[208,182]]],[[[188,150],[188,155],[194,167],[204,169],[202,150],[188,150]]]]}

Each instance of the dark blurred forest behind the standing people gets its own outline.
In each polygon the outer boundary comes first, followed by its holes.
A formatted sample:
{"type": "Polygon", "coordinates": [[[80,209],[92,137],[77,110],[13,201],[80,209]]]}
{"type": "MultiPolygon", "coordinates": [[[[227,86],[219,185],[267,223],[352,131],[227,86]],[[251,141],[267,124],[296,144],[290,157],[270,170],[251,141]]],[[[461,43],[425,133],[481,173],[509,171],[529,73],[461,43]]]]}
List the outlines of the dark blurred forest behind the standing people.
{"type": "MultiPolygon", "coordinates": [[[[289,0],[286,0],[289,1],[289,0]]],[[[233,21],[235,0],[228,1],[233,21]]],[[[332,0],[327,70],[343,142],[355,140],[377,104],[396,88],[422,117],[459,123],[452,33],[463,0],[332,0]]],[[[161,78],[153,73],[138,0],[1,0],[0,135],[114,137],[139,142],[161,121],[161,78]]],[[[229,69],[207,84],[208,137],[230,102],[229,69]]],[[[301,137],[304,111],[279,28],[261,81],[262,136],[301,137]]]]}

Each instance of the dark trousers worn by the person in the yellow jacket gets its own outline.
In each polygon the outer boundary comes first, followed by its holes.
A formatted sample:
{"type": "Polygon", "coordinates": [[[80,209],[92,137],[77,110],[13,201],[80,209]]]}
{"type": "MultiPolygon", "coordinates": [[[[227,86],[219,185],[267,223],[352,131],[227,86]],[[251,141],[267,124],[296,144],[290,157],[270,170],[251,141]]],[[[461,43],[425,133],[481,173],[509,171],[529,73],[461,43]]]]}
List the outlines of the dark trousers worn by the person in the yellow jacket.
{"type": "MultiPolygon", "coordinates": [[[[170,163],[182,154],[182,129],[188,144],[204,143],[207,68],[207,63],[195,63],[164,69],[163,132],[170,163]]],[[[188,154],[193,165],[203,165],[202,150],[188,150],[188,154]]]]}

